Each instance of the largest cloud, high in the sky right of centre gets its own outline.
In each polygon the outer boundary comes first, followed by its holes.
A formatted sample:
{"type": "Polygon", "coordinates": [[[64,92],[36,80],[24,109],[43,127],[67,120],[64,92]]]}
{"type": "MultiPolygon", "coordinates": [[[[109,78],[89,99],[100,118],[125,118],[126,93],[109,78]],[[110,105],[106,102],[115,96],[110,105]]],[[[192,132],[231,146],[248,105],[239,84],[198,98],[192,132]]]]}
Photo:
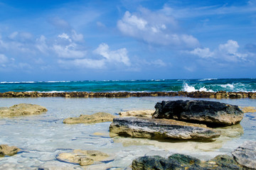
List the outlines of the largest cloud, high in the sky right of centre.
{"type": "Polygon", "coordinates": [[[192,35],[178,33],[176,21],[161,11],[141,8],[139,13],[126,11],[117,28],[124,34],[156,45],[169,47],[197,47],[199,42],[192,35]]]}

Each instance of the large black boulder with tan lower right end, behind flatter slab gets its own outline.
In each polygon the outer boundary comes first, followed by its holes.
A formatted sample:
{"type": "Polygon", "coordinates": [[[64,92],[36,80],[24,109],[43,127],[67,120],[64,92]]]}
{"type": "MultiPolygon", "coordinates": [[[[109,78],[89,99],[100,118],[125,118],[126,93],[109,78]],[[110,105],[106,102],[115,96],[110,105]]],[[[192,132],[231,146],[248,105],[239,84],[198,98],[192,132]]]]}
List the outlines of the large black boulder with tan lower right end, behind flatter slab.
{"type": "Polygon", "coordinates": [[[243,117],[238,106],[216,101],[162,101],[156,103],[153,118],[183,120],[206,125],[235,125],[243,117]]]}

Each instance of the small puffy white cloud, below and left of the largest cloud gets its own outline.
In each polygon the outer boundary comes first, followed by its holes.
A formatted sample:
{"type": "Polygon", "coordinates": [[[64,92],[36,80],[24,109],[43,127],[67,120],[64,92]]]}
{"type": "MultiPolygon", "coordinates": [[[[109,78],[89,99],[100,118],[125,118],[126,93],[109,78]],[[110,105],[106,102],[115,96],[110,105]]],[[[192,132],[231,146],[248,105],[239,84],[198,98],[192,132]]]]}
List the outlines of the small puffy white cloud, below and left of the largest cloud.
{"type": "Polygon", "coordinates": [[[127,66],[131,64],[129,62],[129,57],[127,55],[128,52],[126,48],[111,51],[110,47],[107,44],[102,43],[99,45],[99,47],[97,47],[94,52],[98,55],[102,55],[109,62],[122,62],[127,66]]]}

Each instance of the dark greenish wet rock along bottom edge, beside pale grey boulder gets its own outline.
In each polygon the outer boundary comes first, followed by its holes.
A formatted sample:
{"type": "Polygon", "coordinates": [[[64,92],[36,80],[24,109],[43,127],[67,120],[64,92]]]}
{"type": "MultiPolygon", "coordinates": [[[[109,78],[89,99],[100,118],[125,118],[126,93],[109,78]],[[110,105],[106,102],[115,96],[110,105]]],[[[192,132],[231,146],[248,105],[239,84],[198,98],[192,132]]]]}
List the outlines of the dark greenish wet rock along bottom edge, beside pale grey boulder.
{"type": "Polygon", "coordinates": [[[225,169],[225,170],[242,170],[242,166],[235,162],[233,157],[228,155],[218,155],[217,157],[210,159],[207,162],[201,162],[201,160],[194,157],[190,157],[184,154],[172,154],[168,158],[159,156],[147,156],[134,159],[132,162],[133,170],[149,170],[149,169],[225,169]]]}

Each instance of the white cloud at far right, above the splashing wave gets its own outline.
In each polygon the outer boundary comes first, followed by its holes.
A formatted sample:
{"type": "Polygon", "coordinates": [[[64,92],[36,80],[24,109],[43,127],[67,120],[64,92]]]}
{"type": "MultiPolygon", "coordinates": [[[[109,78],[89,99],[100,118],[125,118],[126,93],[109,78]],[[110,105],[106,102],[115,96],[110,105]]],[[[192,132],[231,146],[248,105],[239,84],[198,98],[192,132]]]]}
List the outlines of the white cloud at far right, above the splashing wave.
{"type": "Polygon", "coordinates": [[[239,45],[235,40],[228,40],[225,44],[218,45],[218,48],[210,51],[209,48],[199,48],[188,52],[192,55],[197,55],[201,58],[215,58],[218,60],[225,60],[227,62],[242,62],[246,61],[248,54],[238,52],[239,45]]]}

